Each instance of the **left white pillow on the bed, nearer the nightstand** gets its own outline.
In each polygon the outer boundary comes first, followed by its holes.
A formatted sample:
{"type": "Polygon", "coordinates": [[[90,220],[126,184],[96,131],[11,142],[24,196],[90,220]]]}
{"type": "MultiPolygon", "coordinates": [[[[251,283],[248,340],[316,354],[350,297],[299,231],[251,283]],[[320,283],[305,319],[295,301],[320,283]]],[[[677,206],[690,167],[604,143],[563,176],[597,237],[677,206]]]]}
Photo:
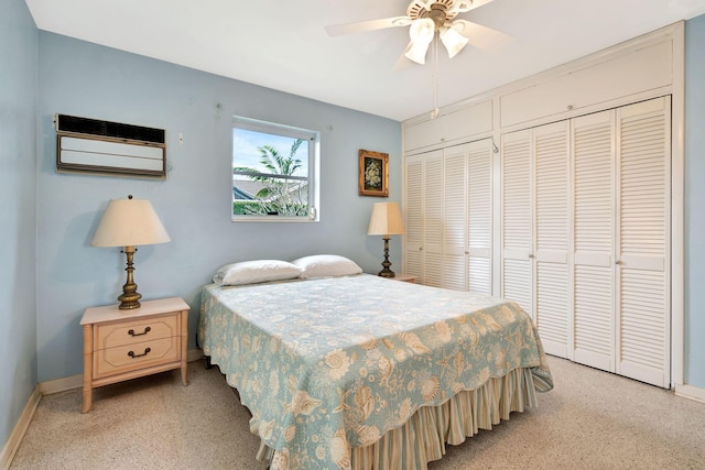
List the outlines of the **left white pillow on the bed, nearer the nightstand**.
{"type": "Polygon", "coordinates": [[[254,260],[226,264],[220,267],[213,282],[219,285],[254,284],[299,277],[303,269],[279,260],[254,260]]]}

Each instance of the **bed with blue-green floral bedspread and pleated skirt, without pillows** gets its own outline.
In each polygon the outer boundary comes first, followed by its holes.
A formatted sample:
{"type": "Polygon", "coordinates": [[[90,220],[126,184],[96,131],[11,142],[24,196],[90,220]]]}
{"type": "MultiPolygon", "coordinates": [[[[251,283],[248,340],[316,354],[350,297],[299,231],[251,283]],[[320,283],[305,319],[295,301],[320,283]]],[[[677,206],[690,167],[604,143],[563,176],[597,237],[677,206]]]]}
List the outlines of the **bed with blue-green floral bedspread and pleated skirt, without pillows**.
{"type": "Polygon", "coordinates": [[[279,469],[425,469],[553,387],[501,298],[368,274],[202,291],[198,343],[279,469]]]}

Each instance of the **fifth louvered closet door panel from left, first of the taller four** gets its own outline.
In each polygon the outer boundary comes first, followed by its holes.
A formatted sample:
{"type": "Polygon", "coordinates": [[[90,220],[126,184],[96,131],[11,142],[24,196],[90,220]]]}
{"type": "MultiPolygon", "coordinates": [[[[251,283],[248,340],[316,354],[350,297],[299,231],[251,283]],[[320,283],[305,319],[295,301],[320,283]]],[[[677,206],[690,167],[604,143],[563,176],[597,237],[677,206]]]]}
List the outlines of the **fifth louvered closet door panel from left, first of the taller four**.
{"type": "Polygon", "coordinates": [[[501,296],[533,317],[531,131],[502,135],[501,296]]]}

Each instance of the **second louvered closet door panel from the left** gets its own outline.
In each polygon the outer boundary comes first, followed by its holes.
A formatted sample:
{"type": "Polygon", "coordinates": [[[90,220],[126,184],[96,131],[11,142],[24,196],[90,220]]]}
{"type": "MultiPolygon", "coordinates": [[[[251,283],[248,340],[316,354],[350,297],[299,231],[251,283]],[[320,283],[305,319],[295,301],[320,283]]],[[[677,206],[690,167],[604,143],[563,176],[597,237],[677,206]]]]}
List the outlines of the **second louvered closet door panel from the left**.
{"type": "Polygon", "coordinates": [[[422,283],[443,286],[443,151],[423,157],[423,275],[422,283]]]}

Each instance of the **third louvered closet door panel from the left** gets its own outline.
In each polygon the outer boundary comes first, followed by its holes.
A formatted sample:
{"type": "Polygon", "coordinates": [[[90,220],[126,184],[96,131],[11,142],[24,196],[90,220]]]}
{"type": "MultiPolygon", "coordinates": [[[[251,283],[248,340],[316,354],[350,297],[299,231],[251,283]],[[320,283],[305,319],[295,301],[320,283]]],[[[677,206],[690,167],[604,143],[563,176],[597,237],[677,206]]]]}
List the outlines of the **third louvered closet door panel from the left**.
{"type": "Polygon", "coordinates": [[[443,151],[443,287],[467,291],[466,245],[466,155],[467,144],[443,151]]]}

